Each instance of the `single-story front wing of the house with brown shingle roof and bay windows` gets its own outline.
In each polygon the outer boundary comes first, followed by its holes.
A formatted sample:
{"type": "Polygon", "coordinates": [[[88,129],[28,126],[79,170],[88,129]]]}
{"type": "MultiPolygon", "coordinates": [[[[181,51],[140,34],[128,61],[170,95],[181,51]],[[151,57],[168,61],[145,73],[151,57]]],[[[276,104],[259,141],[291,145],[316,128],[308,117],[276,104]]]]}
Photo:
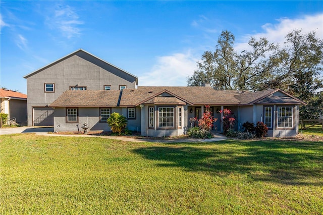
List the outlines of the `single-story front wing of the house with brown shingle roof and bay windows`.
{"type": "Polygon", "coordinates": [[[120,90],[67,90],[49,105],[54,109],[54,131],[81,131],[86,122],[92,131],[111,131],[106,120],[113,112],[128,119],[128,129],[143,136],[185,134],[190,118],[200,119],[205,105],[223,132],[220,110],[230,109],[236,130],[245,122],[264,122],[270,137],[298,133],[299,105],[303,101],[280,89],[259,92],[221,91],[206,87],[138,87],[120,90]]]}

